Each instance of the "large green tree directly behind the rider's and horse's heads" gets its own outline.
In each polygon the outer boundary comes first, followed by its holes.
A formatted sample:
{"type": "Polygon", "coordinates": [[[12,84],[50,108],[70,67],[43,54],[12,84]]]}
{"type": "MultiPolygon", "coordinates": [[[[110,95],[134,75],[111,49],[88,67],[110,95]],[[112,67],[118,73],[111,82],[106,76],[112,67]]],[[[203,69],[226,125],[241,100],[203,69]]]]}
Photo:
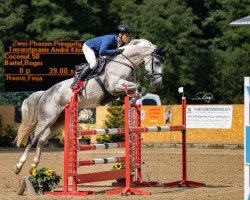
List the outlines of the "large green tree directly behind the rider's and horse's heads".
{"type": "MultiPolygon", "coordinates": [[[[192,10],[184,1],[144,0],[141,4],[127,1],[120,6],[122,22],[130,24],[137,37],[169,49],[163,86],[157,90],[163,97],[163,103],[176,102],[178,93],[173,91],[177,91],[179,86],[192,91],[199,67],[200,42],[196,38],[201,34],[193,22],[196,17],[192,10]]],[[[151,91],[154,90],[151,88],[151,91]]]]}

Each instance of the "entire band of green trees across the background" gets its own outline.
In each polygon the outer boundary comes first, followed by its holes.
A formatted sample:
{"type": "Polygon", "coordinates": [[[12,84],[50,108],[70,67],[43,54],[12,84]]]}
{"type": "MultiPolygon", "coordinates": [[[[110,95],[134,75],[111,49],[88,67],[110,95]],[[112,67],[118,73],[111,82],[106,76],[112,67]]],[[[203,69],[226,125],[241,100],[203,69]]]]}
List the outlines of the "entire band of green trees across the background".
{"type": "MultiPolygon", "coordinates": [[[[213,93],[214,103],[243,103],[250,28],[231,28],[229,23],[249,15],[249,4],[246,0],[8,0],[0,5],[0,51],[8,40],[86,40],[129,24],[135,38],[169,49],[160,88],[152,88],[143,72],[138,76],[164,104],[178,101],[180,86],[188,98],[206,91],[213,93]]],[[[0,91],[3,73],[0,54],[0,91]]]]}

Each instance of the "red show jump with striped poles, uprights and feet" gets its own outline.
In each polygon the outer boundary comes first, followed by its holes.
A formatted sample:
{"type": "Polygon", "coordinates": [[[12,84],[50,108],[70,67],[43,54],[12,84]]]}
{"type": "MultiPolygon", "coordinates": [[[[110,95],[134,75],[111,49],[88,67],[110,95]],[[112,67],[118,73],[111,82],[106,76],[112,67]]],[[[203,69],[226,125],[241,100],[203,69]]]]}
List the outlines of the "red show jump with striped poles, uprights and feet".
{"type": "MultiPolygon", "coordinates": [[[[124,128],[96,129],[96,130],[77,130],[78,113],[78,90],[82,82],[73,89],[71,102],[65,106],[65,125],[64,125],[64,175],[63,190],[46,192],[47,195],[56,196],[86,196],[95,194],[95,191],[80,191],[79,184],[100,182],[107,180],[125,179],[124,184],[113,183],[113,186],[121,186],[113,190],[105,191],[106,194],[141,194],[149,195],[150,191],[142,190],[140,186],[156,186],[158,181],[142,181],[141,171],[141,133],[142,132],[161,132],[161,131],[181,131],[182,132],[182,180],[164,183],[164,187],[172,186],[205,186],[204,183],[187,180],[187,157],[186,157],[186,98],[182,97],[182,125],[179,126],[152,126],[140,127],[140,105],[130,107],[129,96],[124,97],[124,128]],[[102,135],[102,134],[125,134],[125,142],[78,145],[78,135],[102,135]],[[77,161],[78,151],[122,148],[125,147],[124,157],[100,158],[92,160],[77,161]],[[86,165],[106,164],[124,162],[125,169],[110,170],[78,174],[77,168],[86,165]],[[69,189],[69,178],[72,179],[72,186],[69,189]]],[[[126,91],[126,90],[125,90],[126,91]]]]}

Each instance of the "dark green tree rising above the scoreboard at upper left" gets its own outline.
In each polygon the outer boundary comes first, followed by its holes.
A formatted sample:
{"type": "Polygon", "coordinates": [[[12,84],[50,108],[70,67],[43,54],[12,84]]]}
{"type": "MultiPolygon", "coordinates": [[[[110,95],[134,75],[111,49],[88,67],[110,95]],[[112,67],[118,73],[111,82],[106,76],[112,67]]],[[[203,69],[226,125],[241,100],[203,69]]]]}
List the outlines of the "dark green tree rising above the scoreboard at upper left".
{"type": "MultiPolygon", "coordinates": [[[[8,40],[73,39],[77,30],[70,27],[72,18],[49,0],[8,0],[0,5],[0,50],[8,40]]],[[[3,55],[0,56],[0,90],[3,90],[3,55]]]]}

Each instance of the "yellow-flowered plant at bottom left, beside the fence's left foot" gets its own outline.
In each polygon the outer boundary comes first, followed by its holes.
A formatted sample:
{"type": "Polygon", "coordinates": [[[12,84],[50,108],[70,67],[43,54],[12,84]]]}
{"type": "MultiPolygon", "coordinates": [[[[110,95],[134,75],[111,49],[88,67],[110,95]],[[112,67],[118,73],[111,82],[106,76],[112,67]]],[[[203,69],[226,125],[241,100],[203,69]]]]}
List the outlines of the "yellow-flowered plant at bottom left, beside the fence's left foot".
{"type": "Polygon", "coordinates": [[[47,167],[40,169],[34,168],[32,175],[29,177],[36,191],[51,191],[55,189],[61,180],[61,176],[47,167]]]}

